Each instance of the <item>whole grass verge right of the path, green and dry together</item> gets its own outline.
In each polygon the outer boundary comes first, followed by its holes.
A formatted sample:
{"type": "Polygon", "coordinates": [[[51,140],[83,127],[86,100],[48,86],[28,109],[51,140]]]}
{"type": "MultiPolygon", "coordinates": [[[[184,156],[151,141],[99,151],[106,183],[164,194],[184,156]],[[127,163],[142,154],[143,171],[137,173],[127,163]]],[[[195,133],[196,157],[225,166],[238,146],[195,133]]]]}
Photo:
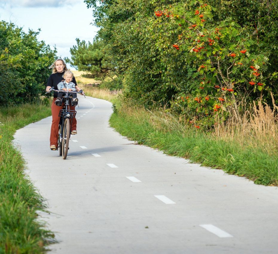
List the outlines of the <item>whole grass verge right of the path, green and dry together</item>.
{"type": "Polygon", "coordinates": [[[139,144],[223,169],[256,184],[278,186],[277,108],[259,102],[258,108],[255,105],[243,115],[232,114],[228,122],[207,132],[164,109],[122,103],[111,115],[110,125],[139,144]]]}

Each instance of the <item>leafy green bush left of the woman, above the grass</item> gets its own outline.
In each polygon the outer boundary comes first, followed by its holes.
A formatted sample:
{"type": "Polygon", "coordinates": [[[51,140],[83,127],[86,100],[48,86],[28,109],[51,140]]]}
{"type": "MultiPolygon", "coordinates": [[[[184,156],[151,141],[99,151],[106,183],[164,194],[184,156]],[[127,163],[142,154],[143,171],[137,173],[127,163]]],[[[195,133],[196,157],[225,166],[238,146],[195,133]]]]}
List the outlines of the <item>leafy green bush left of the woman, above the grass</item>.
{"type": "Polygon", "coordinates": [[[44,94],[56,50],[38,41],[38,34],[0,21],[0,105],[35,101],[44,94]]]}

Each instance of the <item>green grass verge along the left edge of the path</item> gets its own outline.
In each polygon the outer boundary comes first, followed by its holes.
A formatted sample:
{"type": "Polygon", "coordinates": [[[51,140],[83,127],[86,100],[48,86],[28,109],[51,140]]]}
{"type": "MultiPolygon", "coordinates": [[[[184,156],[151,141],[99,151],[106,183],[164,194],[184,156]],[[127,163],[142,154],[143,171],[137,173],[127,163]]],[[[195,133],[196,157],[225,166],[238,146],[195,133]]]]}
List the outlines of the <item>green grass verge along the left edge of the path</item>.
{"type": "Polygon", "coordinates": [[[11,144],[17,129],[49,115],[49,105],[0,108],[0,253],[45,253],[54,239],[37,220],[37,211],[46,209],[44,199],[25,175],[20,151],[11,144]]]}

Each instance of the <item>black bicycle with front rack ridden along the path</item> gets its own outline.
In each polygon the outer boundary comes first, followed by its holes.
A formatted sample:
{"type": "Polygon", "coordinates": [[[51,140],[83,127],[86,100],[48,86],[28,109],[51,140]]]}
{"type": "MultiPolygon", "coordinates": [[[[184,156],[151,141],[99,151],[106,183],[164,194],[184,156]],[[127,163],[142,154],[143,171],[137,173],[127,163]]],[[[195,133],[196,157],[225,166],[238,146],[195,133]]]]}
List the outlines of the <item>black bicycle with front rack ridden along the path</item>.
{"type": "MultiPolygon", "coordinates": [[[[51,91],[54,92],[61,92],[60,90],[55,90],[54,88],[50,88],[46,94],[50,93],[51,91]]],[[[82,90],[79,92],[76,91],[63,91],[65,93],[64,95],[64,107],[59,111],[59,117],[60,117],[60,122],[59,122],[59,133],[58,133],[58,151],[59,155],[63,157],[65,160],[68,155],[68,143],[69,139],[71,137],[71,119],[73,119],[76,115],[75,110],[70,110],[69,105],[71,105],[71,98],[68,94],[69,93],[76,93],[76,94],[82,94],[85,97],[85,94],[83,93],[82,90]]],[[[86,98],[86,97],[85,97],[86,98]]]]}

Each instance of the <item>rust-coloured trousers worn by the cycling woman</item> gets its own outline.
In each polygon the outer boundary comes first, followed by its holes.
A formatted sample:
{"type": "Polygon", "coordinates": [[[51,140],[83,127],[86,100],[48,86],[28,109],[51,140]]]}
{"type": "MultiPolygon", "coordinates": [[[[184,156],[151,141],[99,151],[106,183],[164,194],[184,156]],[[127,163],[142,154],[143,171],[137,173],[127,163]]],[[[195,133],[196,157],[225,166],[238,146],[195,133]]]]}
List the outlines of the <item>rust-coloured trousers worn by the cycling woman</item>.
{"type": "MultiPolygon", "coordinates": [[[[53,98],[52,105],[51,105],[51,112],[52,112],[52,125],[51,125],[51,131],[50,131],[50,145],[58,146],[58,132],[59,132],[59,122],[60,122],[60,117],[59,117],[59,112],[60,109],[63,108],[62,106],[56,106],[55,105],[55,100],[57,98],[53,98]]],[[[75,110],[75,106],[70,106],[71,110],[75,110]]],[[[76,130],[76,118],[74,117],[72,119],[72,125],[71,125],[71,131],[76,130]]]]}

